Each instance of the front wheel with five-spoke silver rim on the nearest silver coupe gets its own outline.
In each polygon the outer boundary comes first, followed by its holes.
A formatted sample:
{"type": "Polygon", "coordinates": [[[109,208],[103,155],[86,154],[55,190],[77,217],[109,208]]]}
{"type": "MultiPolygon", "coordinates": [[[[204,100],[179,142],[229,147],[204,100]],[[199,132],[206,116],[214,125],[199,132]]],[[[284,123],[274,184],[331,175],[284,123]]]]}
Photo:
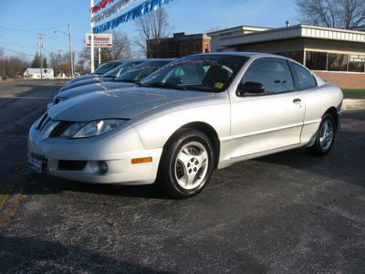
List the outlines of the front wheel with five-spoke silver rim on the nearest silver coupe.
{"type": "Polygon", "coordinates": [[[158,184],[172,198],[188,198],[203,190],[213,170],[212,142],[203,132],[183,129],[164,146],[158,184]]]}

